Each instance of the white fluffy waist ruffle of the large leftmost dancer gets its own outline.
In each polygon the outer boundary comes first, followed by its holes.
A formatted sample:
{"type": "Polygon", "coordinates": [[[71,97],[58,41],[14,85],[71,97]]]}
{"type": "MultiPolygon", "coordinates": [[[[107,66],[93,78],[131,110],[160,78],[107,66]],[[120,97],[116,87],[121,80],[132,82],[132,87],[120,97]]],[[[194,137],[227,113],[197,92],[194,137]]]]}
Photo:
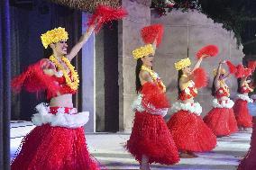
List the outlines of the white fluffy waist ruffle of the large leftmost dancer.
{"type": "Polygon", "coordinates": [[[75,108],[71,109],[69,113],[65,113],[65,108],[59,107],[56,114],[50,113],[47,103],[40,103],[35,108],[37,113],[32,115],[32,123],[36,126],[49,123],[50,126],[76,129],[89,121],[89,112],[77,112],[75,108]]]}

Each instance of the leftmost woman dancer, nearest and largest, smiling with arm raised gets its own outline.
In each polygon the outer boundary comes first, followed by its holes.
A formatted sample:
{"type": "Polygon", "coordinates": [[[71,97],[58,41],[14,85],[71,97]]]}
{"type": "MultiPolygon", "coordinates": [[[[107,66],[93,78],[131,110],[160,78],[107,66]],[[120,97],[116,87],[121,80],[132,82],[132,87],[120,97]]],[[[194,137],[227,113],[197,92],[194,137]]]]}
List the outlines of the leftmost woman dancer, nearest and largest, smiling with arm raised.
{"type": "Polygon", "coordinates": [[[83,126],[88,121],[88,112],[73,108],[72,94],[77,93],[79,79],[70,64],[93,30],[94,26],[90,26],[69,53],[68,32],[64,28],[42,34],[41,41],[51,51],[50,58],[42,59],[14,78],[15,90],[21,87],[29,92],[46,90],[50,103],[36,106],[37,113],[32,116],[36,128],[24,137],[12,170],[100,169],[87,150],[83,126]]]}

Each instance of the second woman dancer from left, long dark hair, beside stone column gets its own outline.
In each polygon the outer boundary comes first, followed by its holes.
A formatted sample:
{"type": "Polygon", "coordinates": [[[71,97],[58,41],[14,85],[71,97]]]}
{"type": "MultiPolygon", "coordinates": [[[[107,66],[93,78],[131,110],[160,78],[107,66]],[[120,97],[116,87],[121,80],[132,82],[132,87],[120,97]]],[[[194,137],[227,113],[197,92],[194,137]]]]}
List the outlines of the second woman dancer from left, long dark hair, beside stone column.
{"type": "Polygon", "coordinates": [[[179,160],[178,150],[163,120],[169,102],[165,96],[165,86],[152,70],[153,55],[151,44],[133,50],[133,57],[137,59],[135,74],[138,98],[133,103],[135,119],[126,148],[140,162],[142,170],[149,170],[149,164],[153,162],[172,165],[179,160]]]}

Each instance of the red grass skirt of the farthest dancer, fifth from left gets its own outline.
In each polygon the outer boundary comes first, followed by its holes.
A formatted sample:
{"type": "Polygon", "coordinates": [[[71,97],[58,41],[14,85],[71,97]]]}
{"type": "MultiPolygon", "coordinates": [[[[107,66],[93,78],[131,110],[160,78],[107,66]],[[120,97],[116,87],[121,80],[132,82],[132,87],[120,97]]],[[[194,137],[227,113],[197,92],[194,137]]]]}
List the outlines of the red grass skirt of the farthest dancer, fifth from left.
{"type": "Polygon", "coordinates": [[[233,112],[238,127],[251,128],[252,117],[249,113],[247,101],[237,99],[233,105],[233,112]]]}

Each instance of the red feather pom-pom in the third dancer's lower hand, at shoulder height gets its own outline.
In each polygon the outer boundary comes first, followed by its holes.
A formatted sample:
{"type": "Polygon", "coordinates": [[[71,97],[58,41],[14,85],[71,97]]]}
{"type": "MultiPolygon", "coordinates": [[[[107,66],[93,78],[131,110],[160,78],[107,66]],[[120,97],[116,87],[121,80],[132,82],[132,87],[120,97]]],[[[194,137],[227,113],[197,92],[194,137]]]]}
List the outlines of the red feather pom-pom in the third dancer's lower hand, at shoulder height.
{"type": "Polygon", "coordinates": [[[198,67],[193,73],[192,73],[192,79],[195,82],[195,86],[197,88],[202,88],[207,85],[207,75],[206,70],[202,67],[198,67]]]}

